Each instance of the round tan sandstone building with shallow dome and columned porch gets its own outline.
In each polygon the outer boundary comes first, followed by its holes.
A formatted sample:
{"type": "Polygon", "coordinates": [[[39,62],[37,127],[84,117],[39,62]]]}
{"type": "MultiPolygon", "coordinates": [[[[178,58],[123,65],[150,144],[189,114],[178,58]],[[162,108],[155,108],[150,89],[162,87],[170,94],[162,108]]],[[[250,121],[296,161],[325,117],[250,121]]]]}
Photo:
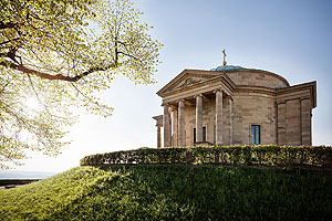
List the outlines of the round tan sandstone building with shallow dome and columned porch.
{"type": "Polygon", "coordinates": [[[312,144],[315,82],[290,86],[271,72],[229,67],[185,70],[157,92],[164,107],[154,117],[158,147],[162,127],[164,147],[312,144]]]}

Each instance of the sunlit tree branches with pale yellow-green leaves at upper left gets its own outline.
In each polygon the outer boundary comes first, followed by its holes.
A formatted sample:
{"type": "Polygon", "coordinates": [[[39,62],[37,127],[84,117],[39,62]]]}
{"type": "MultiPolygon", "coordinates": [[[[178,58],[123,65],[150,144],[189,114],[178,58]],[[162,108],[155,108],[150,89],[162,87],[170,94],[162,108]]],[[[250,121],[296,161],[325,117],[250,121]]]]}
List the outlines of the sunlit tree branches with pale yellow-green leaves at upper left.
{"type": "Polygon", "coordinates": [[[131,0],[1,0],[0,11],[2,169],[25,150],[58,155],[75,122],[71,106],[110,116],[94,94],[117,74],[154,83],[162,44],[131,0]]]}

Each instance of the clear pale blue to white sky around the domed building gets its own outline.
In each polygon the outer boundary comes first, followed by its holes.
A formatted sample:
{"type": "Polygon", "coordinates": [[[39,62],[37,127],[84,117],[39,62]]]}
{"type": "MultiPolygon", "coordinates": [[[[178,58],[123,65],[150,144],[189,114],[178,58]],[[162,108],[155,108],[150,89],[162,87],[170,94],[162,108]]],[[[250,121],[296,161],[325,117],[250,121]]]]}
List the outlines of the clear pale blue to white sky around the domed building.
{"type": "Polygon", "coordinates": [[[114,107],[103,118],[77,110],[66,146],[56,158],[30,154],[15,170],[61,172],[86,155],[156,147],[153,116],[163,114],[156,92],[185,69],[222,63],[277,73],[291,85],[317,81],[313,145],[332,146],[332,1],[324,0],[136,0],[142,20],[164,46],[154,85],[120,76],[101,94],[114,107]]]}

